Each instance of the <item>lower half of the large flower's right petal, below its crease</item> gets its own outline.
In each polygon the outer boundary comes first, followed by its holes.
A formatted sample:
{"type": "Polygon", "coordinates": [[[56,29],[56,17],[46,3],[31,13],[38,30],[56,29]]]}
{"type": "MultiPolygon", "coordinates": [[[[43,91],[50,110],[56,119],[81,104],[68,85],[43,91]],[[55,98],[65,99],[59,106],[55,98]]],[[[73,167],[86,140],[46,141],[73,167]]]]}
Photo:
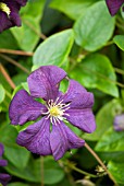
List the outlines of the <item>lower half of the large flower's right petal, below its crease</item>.
{"type": "Polygon", "coordinates": [[[96,121],[90,108],[76,109],[72,108],[66,112],[66,119],[77,128],[91,133],[96,129],[96,121]]]}

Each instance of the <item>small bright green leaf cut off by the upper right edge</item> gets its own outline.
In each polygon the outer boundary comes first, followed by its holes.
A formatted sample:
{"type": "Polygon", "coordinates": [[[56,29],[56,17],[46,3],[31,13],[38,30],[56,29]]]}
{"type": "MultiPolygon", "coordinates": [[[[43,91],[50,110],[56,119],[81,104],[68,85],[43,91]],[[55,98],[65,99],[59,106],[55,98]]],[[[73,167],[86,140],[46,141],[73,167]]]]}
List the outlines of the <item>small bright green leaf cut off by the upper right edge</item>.
{"type": "Polygon", "coordinates": [[[124,35],[115,35],[113,42],[124,51],[124,35]]]}

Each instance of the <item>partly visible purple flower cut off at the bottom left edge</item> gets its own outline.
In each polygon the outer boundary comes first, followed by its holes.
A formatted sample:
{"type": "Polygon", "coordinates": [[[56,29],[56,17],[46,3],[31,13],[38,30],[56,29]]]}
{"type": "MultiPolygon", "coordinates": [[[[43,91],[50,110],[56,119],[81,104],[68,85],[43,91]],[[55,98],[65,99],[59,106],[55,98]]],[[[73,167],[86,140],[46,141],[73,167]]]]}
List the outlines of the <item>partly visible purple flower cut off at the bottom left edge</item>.
{"type": "MultiPolygon", "coordinates": [[[[2,154],[3,154],[3,146],[2,143],[0,143],[0,158],[2,156],[2,154]]],[[[7,166],[7,164],[8,162],[5,160],[0,159],[0,166],[7,166]]],[[[9,174],[0,173],[0,184],[5,186],[10,179],[11,176],[9,174]]]]}

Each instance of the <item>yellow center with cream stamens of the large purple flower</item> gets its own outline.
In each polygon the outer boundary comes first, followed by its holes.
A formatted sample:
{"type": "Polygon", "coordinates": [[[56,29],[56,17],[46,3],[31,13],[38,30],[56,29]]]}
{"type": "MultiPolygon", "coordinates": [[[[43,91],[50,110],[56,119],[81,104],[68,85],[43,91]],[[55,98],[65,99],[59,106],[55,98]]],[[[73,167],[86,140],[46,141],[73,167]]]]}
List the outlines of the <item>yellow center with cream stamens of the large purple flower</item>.
{"type": "Polygon", "coordinates": [[[64,104],[62,103],[63,100],[59,101],[59,97],[53,102],[53,100],[49,100],[47,103],[48,112],[45,113],[45,115],[48,115],[47,118],[50,118],[50,121],[52,124],[60,123],[60,120],[65,119],[64,116],[67,116],[69,114],[65,113],[70,108],[70,103],[64,104]]]}

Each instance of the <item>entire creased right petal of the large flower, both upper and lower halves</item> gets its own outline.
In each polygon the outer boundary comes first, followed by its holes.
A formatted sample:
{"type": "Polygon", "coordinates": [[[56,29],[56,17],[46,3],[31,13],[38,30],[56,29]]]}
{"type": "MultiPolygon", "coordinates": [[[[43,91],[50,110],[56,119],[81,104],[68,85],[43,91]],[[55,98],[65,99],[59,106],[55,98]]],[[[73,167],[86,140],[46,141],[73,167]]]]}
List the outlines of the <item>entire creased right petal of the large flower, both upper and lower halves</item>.
{"type": "Polygon", "coordinates": [[[96,129],[95,117],[91,112],[92,93],[87,92],[77,81],[70,80],[69,90],[63,95],[63,100],[64,103],[70,103],[70,108],[65,112],[64,117],[83,131],[92,132],[96,129]]]}

